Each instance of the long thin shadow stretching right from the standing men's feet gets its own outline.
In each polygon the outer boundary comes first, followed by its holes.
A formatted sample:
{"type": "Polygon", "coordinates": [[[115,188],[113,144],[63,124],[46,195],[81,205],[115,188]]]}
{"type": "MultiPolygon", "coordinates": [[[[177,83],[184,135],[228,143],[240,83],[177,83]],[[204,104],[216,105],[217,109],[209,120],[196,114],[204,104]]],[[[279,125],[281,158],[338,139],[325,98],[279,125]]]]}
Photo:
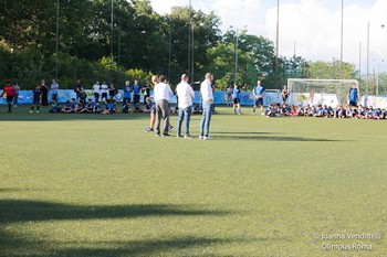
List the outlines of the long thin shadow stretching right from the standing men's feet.
{"type": "Polygon", "coordinates": [[[302,138],[302,137],[266,137],[266,136],[244,136],[250,133],[219,135],[213,132],[216,140],[249,140],[249,141],[284,141],[284,142],[338,142],[343,140],[323,139],[323,138],[302,138]]]}

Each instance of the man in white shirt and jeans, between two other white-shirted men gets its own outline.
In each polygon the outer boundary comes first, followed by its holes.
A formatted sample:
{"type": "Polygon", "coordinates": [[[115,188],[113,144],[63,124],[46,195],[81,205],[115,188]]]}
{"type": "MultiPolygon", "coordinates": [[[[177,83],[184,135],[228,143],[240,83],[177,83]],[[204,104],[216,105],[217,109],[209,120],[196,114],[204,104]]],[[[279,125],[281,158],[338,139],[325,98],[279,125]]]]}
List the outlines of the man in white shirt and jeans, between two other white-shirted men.
{"type": "Polygon", "coordinates": [[[195,93],[192,87],[188,84],[188,75],[181,75],[181,82],[176,87],[176,94],[179,98],[178,107],[179,107],[179,118],[177,121],[177,138],[182,138],[181,136],[181,124],[185,120],[185,131],[186,135],[184,138],[191,139],[192,137],[189,135],[189,121],[192,114],[192,98],[195,97],[195,93]]]}

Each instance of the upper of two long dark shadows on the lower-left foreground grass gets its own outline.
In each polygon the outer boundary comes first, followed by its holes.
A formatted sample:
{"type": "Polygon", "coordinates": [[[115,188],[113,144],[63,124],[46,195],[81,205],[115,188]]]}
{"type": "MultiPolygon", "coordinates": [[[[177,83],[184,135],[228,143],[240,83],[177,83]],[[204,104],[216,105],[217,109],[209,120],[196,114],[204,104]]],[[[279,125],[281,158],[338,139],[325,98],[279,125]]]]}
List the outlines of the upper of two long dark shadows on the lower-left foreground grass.
{"type": "Polygon", "coordinates": [[[71,205],[29,200],[1,200],[0,224],[15,222],[133,218],[142,216],[226,215],[229,212],[167,204],[71,205]]]}

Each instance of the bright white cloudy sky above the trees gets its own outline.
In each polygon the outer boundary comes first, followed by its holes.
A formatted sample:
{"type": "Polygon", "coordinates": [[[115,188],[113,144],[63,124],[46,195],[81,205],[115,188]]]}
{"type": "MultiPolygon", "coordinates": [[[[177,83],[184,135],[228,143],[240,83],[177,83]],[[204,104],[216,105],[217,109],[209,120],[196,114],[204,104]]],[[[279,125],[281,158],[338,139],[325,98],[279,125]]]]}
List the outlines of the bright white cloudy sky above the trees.
{"type": "MultiPolygon", "coordinates": [[[[341,60],[342,1],[279,0],[279,54],[295,53],[307,61],[341,60]]],[[[215,12],[222,32],[247,29],[275,42],[275,0],[191,0],[195,10],[215,12]]],[[[154,10],[169,13],[171,7],[187,7],[189,0],[151,0],[154,10]]],[[[387,72],[387,0],[343,0],[343,61],[362,74],[387,72]],[[369,30],[368,28],[369,23],[369,30]],[[385,24],[383,28],[381,25],[385,24]],[[369,31],[369,44],[367,32],[369,31]]]]}

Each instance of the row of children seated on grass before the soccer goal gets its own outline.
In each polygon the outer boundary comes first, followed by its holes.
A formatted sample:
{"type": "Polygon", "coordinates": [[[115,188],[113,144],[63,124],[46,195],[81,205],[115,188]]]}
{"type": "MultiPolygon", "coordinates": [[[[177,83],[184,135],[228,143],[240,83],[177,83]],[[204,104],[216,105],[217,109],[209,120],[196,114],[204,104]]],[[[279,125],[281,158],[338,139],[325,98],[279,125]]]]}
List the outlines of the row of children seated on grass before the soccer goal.
{"type": "Polygon", "coordinates": [[[264,115],[270,117],[321,117],[321,118],[352,118],[352,119],[387,119],[387,109],[337,105],[334,109],[332,106],[289,106],[286,104],[271,104],[268,106],[264,115]]]}

